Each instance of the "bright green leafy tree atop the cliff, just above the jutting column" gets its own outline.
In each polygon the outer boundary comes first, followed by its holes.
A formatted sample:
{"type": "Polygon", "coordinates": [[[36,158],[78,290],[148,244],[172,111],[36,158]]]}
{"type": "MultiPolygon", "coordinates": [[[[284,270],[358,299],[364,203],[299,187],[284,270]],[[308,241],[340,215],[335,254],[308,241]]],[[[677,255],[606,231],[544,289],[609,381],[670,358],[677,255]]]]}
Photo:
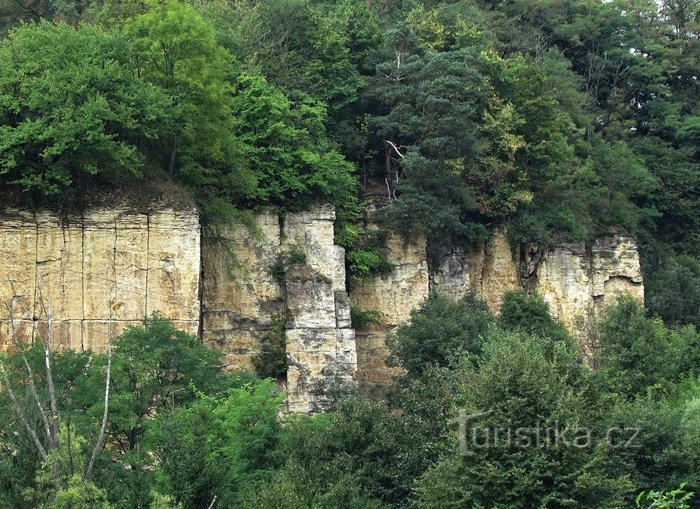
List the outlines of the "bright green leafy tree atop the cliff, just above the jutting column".
{"type": "Polygon", "coordinates": [[[352,168],[326,138],[323,103],[293,103],[262,76],[242,74],[235,86],[233,132],[258,180],[251,204],[300,210],[353,199],[352,168]]]}

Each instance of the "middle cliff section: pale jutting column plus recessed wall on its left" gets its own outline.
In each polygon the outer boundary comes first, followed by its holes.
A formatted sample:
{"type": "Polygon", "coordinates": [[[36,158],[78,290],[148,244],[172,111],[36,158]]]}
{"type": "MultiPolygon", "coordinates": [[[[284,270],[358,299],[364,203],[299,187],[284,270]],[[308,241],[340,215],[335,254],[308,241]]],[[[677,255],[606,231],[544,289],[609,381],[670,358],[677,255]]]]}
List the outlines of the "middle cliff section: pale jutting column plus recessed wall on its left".
{"type": "Polygon", "coordinates": [[[204,243],[203,340],[222,350],[229,368],[250,369],[274,317],[283,318],[287,409],[323,409],[330,384],[352,382],[357,369],[345,252],[333,243],[335,212],[319,207],[283,219],[263,213],[255,221],[255,229],[237,226],[204,243]],[[303,253],[305,262],[273,277],[291,253],[303,253]]]}

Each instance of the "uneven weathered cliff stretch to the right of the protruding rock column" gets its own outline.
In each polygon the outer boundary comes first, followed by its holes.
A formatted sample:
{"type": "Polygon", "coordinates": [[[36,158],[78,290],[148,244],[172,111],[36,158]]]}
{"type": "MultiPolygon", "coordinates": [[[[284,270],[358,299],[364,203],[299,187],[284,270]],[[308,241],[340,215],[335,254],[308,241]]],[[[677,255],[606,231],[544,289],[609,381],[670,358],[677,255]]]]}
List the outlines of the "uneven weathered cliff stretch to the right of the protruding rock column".
{"type": "Polygon", "coordinates": [[[537,292],[573,333],[584,356],[593,354],[593,323],[607,303],[620,293],[644,299],[637,244],[628,236],[601,237],[588,250],[581,242],[542,252],[535,246],[511,246],[496,229],[487,241],[454,250],[433,270],[425,248],[424,239],[405,243],[390,237],[387,254],[394,272],[351,292],[353,306],[381,313],[376,323],[357,331],[357,379],[370,391],[395,373],[384,363],[387,333],[408,321],[411,309],[431,291],[452,298],[471,292],[494,313],[507,291],[537,292]]]}

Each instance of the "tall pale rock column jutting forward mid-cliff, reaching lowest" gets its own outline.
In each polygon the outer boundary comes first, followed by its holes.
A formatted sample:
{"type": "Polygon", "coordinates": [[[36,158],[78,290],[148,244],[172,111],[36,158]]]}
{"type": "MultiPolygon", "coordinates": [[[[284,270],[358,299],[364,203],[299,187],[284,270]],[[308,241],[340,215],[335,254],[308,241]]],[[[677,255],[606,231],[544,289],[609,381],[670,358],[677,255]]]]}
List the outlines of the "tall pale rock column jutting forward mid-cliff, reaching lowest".
{"type": "Polygon", "coordinates": [[[291,267],[287,298],[287,407],[322,410],[336,384],[354,382],[355,331],[345,289],[345,250],[333,244],[335,211],[320,207],[289,214],[282,251],[298,250],[306,264],[291,267]]]}

